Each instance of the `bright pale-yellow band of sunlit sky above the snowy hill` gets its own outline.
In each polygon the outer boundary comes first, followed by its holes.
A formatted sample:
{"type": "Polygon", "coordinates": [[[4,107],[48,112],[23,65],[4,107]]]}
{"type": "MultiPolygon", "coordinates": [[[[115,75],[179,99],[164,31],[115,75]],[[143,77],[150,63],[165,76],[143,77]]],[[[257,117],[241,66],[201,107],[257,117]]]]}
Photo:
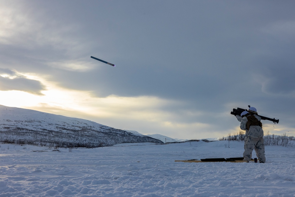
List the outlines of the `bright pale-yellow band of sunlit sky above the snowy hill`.
{"type": "Polygon", "coordinates": [[[119,129],[136,129],[140,133],[160,133],[178,138],[181,138],[181,132],[209,127],[203,123],[186,123],[179,120],[180,116],[189,113],[187,111],[179,114],[167,110],[172,106],[183,105],[179,101],[152,96],[94,97],[91,91],[65,89],[34,74],[21,75],[40,81],[46,87],[46,90],[42,91],[43,95],[16,90],[0,91],[1,105],[83,118],[97,123],[106,122],[108,126],[119,129]],[[157,127],[163,130],[155,130],[157,127]]]}

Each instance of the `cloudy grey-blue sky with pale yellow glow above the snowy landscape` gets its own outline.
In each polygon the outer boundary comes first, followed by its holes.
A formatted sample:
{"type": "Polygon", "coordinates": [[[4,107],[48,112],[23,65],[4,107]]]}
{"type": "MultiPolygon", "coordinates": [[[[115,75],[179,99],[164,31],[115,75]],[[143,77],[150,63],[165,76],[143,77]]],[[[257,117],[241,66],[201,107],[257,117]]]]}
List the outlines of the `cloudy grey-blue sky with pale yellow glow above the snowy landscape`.
{"type": "Polygon", "coordinates": [[[295,1],[0,0],[0,105],[176,139],[295,136],[295,1]],[[110,66],[94,56],[115,64],[110,66]]]}

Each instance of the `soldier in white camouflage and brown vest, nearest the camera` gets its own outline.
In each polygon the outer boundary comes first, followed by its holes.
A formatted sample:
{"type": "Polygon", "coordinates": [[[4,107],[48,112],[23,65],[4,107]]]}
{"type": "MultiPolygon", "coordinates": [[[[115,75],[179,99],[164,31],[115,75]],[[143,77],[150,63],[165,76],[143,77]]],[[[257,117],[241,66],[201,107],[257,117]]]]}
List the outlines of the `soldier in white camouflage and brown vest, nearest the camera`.
{"type": "Polygon", "coordinates": [[[245,144],[244,144],[244,160],[250,161],[253,149],[255,149],[256,155],[260,163],[264,163],[265,152],[264,152],[264,139],[261,118],[257,115],[257,110],[254,107],[249,108],[249,113],[242,113],[242,117],[236,118],[240,121],[240,128],[245,130],[245,144]],[[242,118],[242,119],[241,119],[242,118]]]}

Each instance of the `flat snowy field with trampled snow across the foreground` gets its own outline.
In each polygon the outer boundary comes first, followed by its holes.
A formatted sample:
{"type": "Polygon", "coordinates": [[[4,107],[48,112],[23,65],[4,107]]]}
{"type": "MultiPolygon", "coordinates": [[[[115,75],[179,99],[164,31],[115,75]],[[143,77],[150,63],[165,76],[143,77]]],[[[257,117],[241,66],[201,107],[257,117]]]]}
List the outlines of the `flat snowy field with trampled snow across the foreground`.
{"type": "Polygon", "coordinates": [[[230,148],[227,141],[199,141],[119,144],[71,152],[0,145],[0,197],[295,196],[294,147],[266,146],[263,164],[174,162],[241,157],[243,142],[233,141],[230,148]]]}

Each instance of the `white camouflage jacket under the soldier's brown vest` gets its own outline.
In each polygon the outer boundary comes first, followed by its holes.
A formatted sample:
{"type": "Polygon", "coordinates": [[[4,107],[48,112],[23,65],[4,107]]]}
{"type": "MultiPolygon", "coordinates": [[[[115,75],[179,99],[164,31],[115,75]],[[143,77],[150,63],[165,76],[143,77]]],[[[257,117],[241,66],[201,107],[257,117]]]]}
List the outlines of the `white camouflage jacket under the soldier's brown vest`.
{"type": "MultiPolygon", "coordinates": [[[[242,117],[241,116],[237,117],[237,116],[239,115],[236,115],[236,118],[238,119],[238,121],[240,121],[242,117]]],[[[258,121],[261,121],[260,116],[258,115],[254,115],[254,116],[258,119],[258,121]]],[[[246,136],[254,137],[254,138],[263,137],[263,129],[260,126],[250,126],[249,131],[247,130],[247,127],[246,127],[246,123],[248,122],[247,117],[243,117],[240,122],[241,122],[240,128],[246,131],[245,133],[246,136]]]]}

